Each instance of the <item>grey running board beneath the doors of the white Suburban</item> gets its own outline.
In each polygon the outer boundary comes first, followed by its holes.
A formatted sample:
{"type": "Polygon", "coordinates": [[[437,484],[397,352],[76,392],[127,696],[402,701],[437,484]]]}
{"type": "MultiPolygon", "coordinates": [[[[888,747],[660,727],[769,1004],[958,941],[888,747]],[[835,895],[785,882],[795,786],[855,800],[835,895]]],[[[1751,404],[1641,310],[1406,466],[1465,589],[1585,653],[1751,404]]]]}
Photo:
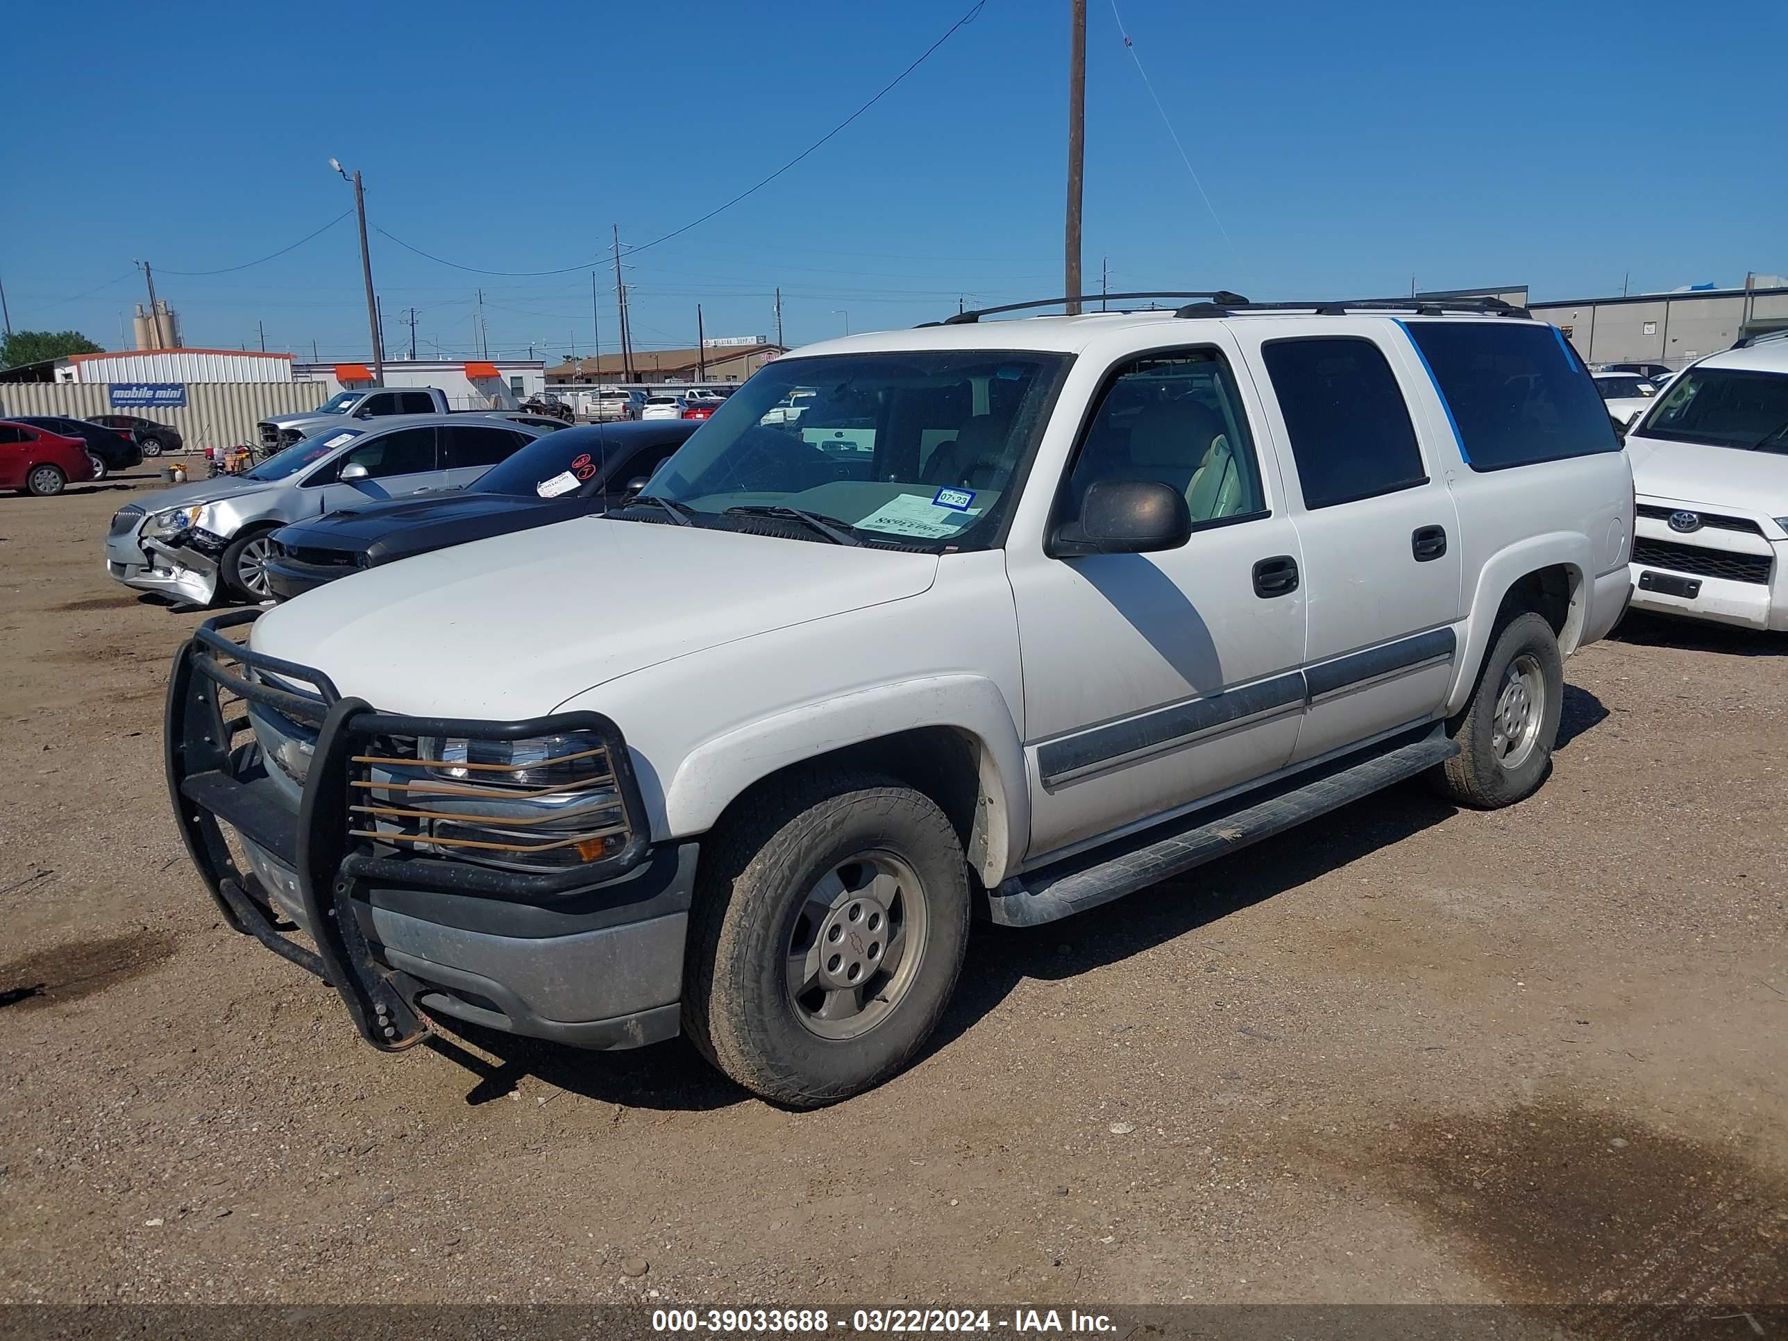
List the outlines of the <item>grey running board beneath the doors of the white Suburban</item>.
{"type": "Polygon", "coordinates": [[[1135,894],[1250,842],[1339,810],[1350,801],[1414,778],[1459,753],[1436,724],[1429,735],[1368,758],[1339,760],[1316,778],[1291,778],[1264,799],[1241,796],[1216,819],[1198,812],[1118,844],[1007,880],[989,899],[999,926],[1039,926],[1135,894]]]}

